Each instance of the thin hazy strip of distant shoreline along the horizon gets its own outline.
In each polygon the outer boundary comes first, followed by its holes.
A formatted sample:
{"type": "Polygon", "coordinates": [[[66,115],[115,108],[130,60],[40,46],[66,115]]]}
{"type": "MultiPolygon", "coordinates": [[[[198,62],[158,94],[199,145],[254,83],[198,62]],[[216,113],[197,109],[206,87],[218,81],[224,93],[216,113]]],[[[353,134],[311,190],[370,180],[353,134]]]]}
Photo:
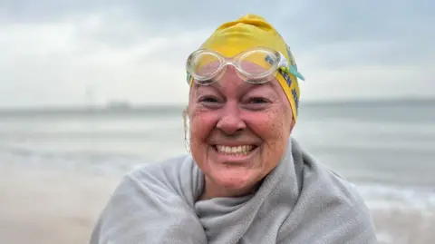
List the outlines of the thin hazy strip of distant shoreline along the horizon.
{"type": "MultiPolygon", "coordinates": [[[[324,106],[393,106],[393,105],[410,105],[410,106],[434,106],[435,97],[433,98],[411,98],[411,99],[372,99],[372,100],[353,100],[353,101],[324,101],[324,102],[301,102],[301,107],[324,107],[324,106]]],[[[15,115],[42,115],[42,114],[142,114],[142,113],[170,113],[182,112],[185,105],[144,105],[131,104],[131,106],[111,107],[111,106],[52,106],[40,108],[0,108],[0,116],[15,115]]]]}

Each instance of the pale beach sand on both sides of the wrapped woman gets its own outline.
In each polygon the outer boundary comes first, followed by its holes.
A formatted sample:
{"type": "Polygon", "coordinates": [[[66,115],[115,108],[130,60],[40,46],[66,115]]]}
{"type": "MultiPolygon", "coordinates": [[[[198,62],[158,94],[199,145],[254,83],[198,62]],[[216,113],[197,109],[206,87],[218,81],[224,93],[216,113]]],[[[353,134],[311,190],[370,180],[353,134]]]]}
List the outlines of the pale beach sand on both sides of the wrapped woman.
{"type": "MultiPolygon", "coordinates": [[[[87,243],[120,176],[0,168],[0,243],[87,243]]],[[[429,244],[435,209],[373,210],[381,244],[429,244]]]]}

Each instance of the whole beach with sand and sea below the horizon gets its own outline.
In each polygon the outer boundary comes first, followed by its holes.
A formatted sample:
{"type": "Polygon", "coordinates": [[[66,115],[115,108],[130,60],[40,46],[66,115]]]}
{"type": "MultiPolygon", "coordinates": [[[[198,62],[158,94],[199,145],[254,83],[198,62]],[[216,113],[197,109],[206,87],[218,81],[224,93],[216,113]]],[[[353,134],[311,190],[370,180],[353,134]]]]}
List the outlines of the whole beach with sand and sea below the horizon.
{"type": "MultiPolygon", "coordinates": [[[[431,244],[435,114],[406,106],[307,107],[295,138],[357,186],[379,243],[431,244]]],[[[0,243],[87,243],[124,173],[186,153],[181,110],[0,114],[0,243]]]]}

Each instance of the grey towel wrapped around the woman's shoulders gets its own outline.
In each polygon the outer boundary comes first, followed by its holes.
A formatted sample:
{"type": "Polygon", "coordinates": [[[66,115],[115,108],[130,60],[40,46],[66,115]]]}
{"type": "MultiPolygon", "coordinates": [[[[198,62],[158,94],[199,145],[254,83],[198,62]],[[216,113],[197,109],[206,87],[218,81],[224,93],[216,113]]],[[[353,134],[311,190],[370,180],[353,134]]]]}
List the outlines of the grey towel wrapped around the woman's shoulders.
{"type": "Polygon", "coordinates": [[[90,243],[376,243],[370,212],[353,185],[295,140],[255,194],[196,201],[203,183],[189,155],[131,171],[90,243]]]}

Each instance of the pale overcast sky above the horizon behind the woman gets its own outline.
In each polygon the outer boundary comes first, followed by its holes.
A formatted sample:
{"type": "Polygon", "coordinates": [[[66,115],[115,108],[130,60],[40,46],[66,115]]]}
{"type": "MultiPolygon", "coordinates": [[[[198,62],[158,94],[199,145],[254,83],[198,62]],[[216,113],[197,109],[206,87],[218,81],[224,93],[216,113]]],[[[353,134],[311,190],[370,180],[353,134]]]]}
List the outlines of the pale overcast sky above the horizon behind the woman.
{"type": "Polygon", "coordinates": [[[0,107],[185,104],[186,57],[247,13],[292,48],[302,100],[435,96],[434,10],[431,0],[0,0],[0,107]]]}

